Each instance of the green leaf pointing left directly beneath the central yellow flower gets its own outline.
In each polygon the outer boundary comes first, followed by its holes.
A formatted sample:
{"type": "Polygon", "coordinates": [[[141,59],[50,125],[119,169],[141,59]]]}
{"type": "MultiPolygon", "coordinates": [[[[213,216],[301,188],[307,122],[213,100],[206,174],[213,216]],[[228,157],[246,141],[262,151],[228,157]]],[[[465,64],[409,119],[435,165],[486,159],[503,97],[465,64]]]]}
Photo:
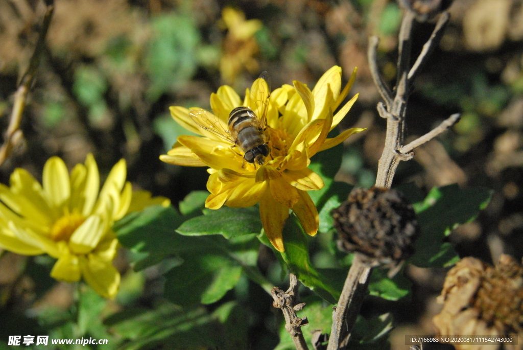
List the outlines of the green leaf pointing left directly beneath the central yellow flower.
{"type": "Polygon", "coordinates": [[[232,239],[247,234],[258,234],[262,228],[256,207],[222,207],[218,210],[204,210],[203,213],[202,216],[181,224],[177,232],[187,236],[221,234],[226,239],[232,239]]]}

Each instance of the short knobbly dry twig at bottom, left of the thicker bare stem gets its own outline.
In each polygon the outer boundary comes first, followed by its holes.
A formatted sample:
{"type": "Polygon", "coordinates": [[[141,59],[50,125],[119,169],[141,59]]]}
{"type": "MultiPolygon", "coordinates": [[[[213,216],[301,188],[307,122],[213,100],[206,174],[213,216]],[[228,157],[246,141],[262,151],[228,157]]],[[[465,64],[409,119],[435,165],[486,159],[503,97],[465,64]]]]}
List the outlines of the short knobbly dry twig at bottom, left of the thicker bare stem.
{"type": "Polygon", "coordinates": [[[309,347],[305,343],[301,327],[308,324],[309,321],[306,317],[303,319],[296,315],[296,311],[300,311],[305,306],[305,303],[300,303],[300,296],[298,293],[298,287],[300,282],[294,274],[289,274],[289,289],[283,292],[278,287],[272,288],[272,306],[281,309],[283,316],[285,317],[285,329],[291,335],[292,341],[296,350],[309,350],[309,347]]]}

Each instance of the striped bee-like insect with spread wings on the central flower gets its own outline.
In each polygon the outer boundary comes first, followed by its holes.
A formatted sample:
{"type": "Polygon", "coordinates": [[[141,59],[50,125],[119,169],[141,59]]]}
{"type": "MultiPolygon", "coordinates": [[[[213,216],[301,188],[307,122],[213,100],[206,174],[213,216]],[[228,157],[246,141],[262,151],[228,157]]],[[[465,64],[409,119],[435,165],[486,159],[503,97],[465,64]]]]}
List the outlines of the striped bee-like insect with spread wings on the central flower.
{"type": "Polygon", "coordinates": [[[262,72],[253,84],[249,98],[256,110],[240,106],[229,114],[227,124],[207,110],[191,108],[189,116],[197,125],[221,139],[232,143],[243,152],[243,159],[255,166],[263,165],[270,154],[267,130],[267,108],[270,97],[270,80],[267,72],[262,72]]]}

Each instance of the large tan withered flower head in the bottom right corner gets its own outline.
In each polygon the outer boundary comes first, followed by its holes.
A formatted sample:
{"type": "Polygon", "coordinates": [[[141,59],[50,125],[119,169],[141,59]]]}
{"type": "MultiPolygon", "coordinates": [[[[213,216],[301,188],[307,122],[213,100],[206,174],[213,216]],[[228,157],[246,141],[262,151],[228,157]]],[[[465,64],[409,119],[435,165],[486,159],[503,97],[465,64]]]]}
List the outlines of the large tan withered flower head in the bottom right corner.
{"type": "MultiPolygon", "coordinates": [[[[496,267],[465,257],[447,273],[438,302],[444,307],[433,322],[441,335],[521,336],[523,267],[508,255],[502,255],[496,267]]],[[[454,346],[457,350],[481,347],[454,346]]]]}

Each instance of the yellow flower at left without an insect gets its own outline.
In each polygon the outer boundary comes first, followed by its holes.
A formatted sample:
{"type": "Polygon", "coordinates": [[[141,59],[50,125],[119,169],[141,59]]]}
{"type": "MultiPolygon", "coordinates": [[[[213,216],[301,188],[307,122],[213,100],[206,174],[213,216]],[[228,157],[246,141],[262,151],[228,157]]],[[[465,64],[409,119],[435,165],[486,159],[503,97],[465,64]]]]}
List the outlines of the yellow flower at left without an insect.
{"type": "Polygon", "coordinates": [[[0,247],[21,255],[47,253],[58,259],[51,277],[67,282],[83,278],[99,295],[113,298],[120,274],[112,266],[118,240],[112,224],[130,209],[169,204],[166,198],[137,193],[131,204],[126,162],[113,166],[99,191],[98,166],[92,154],[71,175],[59,157],[43,168],[42,183],[17,168],[10,187],[0,184],[0,247]],[[99,192],[99,194],[98,194],[99,192]]]}

